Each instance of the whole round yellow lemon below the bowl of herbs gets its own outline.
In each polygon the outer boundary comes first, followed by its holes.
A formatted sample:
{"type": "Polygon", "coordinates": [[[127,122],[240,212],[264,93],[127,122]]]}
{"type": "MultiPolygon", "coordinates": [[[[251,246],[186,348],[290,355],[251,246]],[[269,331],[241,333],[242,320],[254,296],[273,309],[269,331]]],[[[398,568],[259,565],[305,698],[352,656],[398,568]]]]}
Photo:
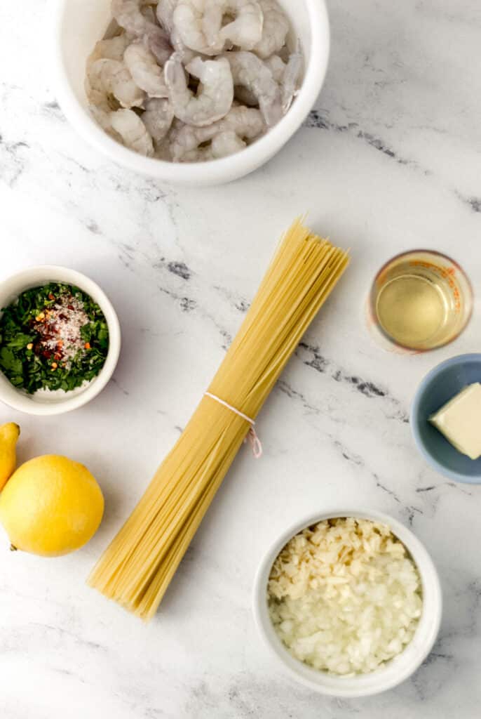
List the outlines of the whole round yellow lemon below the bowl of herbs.
{"type": "Polygon", "coordinates": [[[59,557],[93,537],[103,515],[103,495],[88,469],[67,457],[45,454],[25,462],[0,494],[0,521],[12,549],[59,557]]]}

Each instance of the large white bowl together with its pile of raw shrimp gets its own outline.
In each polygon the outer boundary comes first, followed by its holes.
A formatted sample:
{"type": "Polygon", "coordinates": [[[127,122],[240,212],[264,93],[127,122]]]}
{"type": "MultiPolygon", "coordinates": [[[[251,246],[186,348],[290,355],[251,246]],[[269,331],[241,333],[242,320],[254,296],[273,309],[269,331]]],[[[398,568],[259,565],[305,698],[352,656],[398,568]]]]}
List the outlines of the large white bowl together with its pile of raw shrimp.
{"type": "Polygon", "coordinates": [[[118,165],[178,185],[268,162],[327,70],[324,0],[51,0],[50,20],[73,127],[118,165]]]}

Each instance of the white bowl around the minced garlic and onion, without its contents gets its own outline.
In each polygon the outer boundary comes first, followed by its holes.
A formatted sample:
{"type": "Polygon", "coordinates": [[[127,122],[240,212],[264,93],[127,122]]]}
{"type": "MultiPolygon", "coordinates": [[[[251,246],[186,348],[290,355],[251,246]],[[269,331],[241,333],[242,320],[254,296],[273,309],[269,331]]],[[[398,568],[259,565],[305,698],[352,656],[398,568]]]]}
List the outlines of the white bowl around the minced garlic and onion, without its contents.
{"type": "Polygon", "coordinates": [[[418,669],[432,649],[442,616],[442,594],[436,568],[419,539],[406,526],[381,512],[358,508],[335,508],[335,510],[314,514],[287,529],[268,549],[258,569],[253,589],[253,613],[263,641],[271,650],[279,665],[291,679],[306,685],[320,694],[333,697],[367,697],[379,694],[407,679],[418,669]],[[337,677],[308,667],[292,656],[276,634],[268,614],[267,583],[272,564],[285,544],[304,528],[325,519],[355,517],[370,519],[387,524],[393,534],[406,546],[419,570],[423,592],[423,612],[414,638],[406,649],[389,661],[385,667],[370,674],[355,677],[337,677]]]}

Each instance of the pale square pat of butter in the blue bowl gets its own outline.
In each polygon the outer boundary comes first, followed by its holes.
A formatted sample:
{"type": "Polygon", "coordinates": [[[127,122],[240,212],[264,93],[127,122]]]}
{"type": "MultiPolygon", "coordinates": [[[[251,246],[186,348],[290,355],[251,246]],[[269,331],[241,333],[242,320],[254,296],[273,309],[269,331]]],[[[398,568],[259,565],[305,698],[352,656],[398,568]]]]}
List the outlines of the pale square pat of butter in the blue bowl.
{"type": "Polygon", "coordinates": [[[429,421],[459,452],[471,459],[481,457],[481,384],[467,385],[429,421]]]}

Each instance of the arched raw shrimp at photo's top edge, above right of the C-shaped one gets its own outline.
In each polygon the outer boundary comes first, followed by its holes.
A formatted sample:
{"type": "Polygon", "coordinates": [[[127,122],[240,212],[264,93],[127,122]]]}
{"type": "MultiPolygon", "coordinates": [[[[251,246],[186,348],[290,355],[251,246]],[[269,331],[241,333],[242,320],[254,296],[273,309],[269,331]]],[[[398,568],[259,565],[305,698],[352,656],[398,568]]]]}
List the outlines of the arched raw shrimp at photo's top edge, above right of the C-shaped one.
{"type": "Polygon", "coordinates": [[[212,47],[225,43],[252,50],[262,39],[263,14],[256,0],[206,0],[202,26],[212,47]],[[232,22],[223,25],[225,17],[232,22]]]}

